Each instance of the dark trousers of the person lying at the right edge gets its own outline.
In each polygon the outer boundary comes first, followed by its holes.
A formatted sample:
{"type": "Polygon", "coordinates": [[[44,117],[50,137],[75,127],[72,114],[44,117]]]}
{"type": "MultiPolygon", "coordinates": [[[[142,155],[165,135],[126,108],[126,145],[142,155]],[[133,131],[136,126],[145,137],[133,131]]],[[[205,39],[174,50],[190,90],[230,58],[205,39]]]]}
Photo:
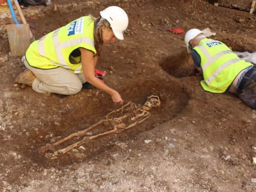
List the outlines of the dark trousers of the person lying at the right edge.
{"type": "Polygon", "coordinates": [[[243,103],[256,109],[256,65],[246,72],[237,91],[243,103]]]}

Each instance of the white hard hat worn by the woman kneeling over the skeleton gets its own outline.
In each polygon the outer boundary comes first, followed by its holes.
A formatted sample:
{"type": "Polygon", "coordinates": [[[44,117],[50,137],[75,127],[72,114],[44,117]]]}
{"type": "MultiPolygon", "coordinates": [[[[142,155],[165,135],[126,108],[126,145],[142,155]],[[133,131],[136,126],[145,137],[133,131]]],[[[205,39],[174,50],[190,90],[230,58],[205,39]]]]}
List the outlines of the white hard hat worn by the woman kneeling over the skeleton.
{"type": "Polygon", "coordinates": [[[119,40],[123,40],[123,32],[128,27],[128,16],[125,11],[117,6],[110,6],[100,12],[101,17],[105,18],[112,28],[114,35],[119,40]]]}

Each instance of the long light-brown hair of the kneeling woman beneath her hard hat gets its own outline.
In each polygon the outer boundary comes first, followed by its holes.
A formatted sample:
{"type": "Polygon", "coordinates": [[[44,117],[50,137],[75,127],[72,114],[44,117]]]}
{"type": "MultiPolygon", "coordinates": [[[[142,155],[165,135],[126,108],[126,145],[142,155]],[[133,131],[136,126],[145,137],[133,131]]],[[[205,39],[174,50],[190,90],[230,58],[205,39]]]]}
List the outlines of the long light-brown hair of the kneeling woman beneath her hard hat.
{"type": "Polygon", "coordinates": [[[103,40],[102,40],[102,30],[101,28],[103,26],[111,29],[110,23],[105,19],[105,18],[95,18],[92,15],[89,15],[91,19],[96,22],[94,25],[94,46],[97,51],[97,56],[101,55],[101,47],[103,45],[103,40]]]}

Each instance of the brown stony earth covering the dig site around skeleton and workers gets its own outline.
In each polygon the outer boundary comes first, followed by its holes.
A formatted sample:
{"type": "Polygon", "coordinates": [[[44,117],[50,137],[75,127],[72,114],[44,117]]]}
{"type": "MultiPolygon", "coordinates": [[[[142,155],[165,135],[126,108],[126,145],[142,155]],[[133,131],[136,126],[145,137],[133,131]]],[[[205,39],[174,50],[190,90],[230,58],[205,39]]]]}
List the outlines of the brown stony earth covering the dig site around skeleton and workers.
{"type": "MultiPolygon", "coordinates": [[[[254,192],[256,111],[232,94],[203,91],[200,76],[188,76],[192,59],[184,33],[158,30],[204,29],[236,51],[256,49],[253,14],[219,12],[205,0],[53,0],[23,12],[38,39],[110,5],[129,16],[124,41],[104,45],[97,68],[124,103],[143,104],[158,95],[161,107],[133,129],[96,139],[55,160],[39,149],[86,129],[119,108],[108,94],[84,89],[59,98],[19,89],[21,57],[9,54],[0,19],[0,188],[19,192],[254,192]]],[[[67,144],[79,141],[72,139],[67,144]]],[[[67,144],[61,145],[66,147],[67,144]]]]}

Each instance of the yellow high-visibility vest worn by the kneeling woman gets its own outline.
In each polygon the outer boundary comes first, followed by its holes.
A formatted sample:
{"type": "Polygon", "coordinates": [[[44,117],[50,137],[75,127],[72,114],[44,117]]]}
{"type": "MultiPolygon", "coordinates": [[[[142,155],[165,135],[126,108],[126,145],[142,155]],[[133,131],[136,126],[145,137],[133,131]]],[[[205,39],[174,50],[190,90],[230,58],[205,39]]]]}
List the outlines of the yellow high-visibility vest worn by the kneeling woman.
{"type": "Polygon", "coordinates": [[[78,48],[91,50],[94,55],[97,53],[94,46],[94,20],[90,16],[78,18],[34,41],[27,49],[26,59],[32,67],[64,67],[74,73],[80,73],[81,56],[71,56],[78,48]]]}

